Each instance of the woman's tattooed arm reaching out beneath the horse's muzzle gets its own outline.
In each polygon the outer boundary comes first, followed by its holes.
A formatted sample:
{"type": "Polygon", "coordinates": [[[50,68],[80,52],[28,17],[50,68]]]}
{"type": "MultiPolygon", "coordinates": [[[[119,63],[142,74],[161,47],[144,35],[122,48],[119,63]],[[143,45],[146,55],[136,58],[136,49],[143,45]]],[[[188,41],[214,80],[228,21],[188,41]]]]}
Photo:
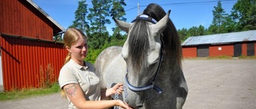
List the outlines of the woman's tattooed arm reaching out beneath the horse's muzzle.
{"type": "Polygon", "coordinates": [[[108,108],[119,106],[123,108],[130,108],[121,100],[102,100],[102,101],[89,101],[84,97],[82,88],[79,84],[67,84],[63,87],[67,97],[70,99],[74,106],[83,109],[94,109],[94,108],[108,108]]]}

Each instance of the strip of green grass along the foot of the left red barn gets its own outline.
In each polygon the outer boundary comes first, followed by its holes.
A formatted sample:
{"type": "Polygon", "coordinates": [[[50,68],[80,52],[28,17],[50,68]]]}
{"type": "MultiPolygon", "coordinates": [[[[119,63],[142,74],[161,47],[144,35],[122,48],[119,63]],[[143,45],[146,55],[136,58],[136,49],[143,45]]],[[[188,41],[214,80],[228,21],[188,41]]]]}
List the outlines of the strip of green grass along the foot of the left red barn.
{"type": "Polygon", "coordinates": [[[0,92],[0,101],[13,99],[26,99],[36,95],[49,95],[60,91],[58,84],[53,84],[50,88],[30,88],[14,91],[0,92]]]}

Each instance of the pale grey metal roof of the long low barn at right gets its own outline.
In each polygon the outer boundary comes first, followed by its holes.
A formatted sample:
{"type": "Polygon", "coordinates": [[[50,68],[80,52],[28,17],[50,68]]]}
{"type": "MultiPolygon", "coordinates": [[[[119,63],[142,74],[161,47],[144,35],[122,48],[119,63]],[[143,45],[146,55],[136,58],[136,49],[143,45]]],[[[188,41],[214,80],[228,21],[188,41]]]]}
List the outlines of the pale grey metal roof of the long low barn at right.
{"type": "Polygon", "coordinates": [[[182,45],[217,45],[241,41],[256,41],[256,30],[189,37],[182,45]]]}

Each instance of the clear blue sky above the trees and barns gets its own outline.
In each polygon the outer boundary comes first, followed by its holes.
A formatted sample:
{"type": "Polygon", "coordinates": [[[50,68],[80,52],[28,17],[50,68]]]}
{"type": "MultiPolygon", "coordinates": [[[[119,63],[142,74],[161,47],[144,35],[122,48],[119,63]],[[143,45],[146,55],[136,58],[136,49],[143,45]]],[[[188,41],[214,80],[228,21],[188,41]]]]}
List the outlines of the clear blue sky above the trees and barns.
{"type": "MultiPolygon", "coordinates": [[[[50,15],[59,25],[67,29],[74,21],[74,12],[78,9],[80,0],[33,0],[42,10],[50,15]]],[[[162,6],[166,12],[171,10],[170,19],[174,22],[176,29],[190,29],[193,26],[203,25],[208,28],[213,20],[214,6],[217,6],[218,0],[126,0],[125,18],[127,22],[132,21],[138,14],[150,3],[157,3],[162,6]]],[[[237,0],[221,0],[222,8],[226,14],[230,11],[237,0]]],[[[87,0],[88,8],[92,7],[91,1],[87,0]]],[[[110,29],[115,26],[114,21],[110,18],[111,24],[106,25],[109,33],[110,29]]]]}

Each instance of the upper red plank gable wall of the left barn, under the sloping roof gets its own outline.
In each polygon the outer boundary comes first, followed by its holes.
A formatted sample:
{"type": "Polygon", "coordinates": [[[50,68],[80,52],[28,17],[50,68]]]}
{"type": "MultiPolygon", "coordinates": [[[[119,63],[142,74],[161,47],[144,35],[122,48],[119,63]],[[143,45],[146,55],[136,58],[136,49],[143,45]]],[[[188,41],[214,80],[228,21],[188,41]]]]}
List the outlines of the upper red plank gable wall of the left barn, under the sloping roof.
{"type": "Polygon", "coordinates": [[[1,0],[0,32],[53,40],[54,25],[24,0],[1,0]]]}

